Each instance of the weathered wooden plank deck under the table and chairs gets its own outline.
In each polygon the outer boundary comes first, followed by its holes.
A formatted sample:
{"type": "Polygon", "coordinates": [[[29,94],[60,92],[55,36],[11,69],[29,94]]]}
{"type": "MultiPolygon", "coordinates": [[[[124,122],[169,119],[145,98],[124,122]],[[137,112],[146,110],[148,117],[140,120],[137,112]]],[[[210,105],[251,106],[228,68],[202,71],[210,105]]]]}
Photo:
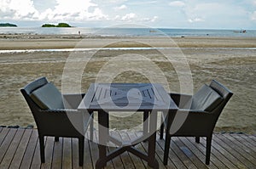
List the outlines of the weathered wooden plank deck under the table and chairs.
{"type": "MultiPolygon", "coordinates": [[[[137,134],[140,132],[122,133],[119,137],[131,139],[137,134]]],[[[54,138],[48,137],[45,142],[46,162],[41,164],[37,129],[0,127],[0,168],[79,168],[78,139],[60,138],[60,142],[55,142],[54,138]]],[[[137,148],[145,150],[147,143],[137,144],[137,148]]],[[[173,138],[168,166],[162,163],[163,149],[164,140],[157,138],[156,158],[160,168],[256,168],[256,137],[253,135],[215,133],[209,166],[204,164],[206,150],[204,138],[201,138],[201,144],[195,144],[195,138],[173,138]]],[[[97,158],[97,144],[86,140],[83,168],[94,168],[97,158]]],[[[124,153],[108,162],[106,168],[149,167],[145,161],[135,155],[124,153]]]]}

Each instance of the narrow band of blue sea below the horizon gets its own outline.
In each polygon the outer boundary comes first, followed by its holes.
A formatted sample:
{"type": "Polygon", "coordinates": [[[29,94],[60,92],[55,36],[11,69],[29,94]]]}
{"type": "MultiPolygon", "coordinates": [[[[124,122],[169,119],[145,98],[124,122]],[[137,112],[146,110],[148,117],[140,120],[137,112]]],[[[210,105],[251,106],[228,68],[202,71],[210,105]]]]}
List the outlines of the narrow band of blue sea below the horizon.
{"type": "Polygon", "coordinates": [[[256,30],[156,29],[156,28],[56,28],[0,27],[0,34],[59,35],[80,34],[101,37],[256,37],[256,30]]]}

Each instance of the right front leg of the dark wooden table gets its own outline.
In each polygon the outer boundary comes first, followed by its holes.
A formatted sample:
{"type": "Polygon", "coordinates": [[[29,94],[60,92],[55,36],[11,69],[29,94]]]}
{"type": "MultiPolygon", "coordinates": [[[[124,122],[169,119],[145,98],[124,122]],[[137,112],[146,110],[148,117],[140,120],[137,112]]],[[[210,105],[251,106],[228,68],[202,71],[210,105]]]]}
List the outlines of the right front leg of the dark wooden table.
{"type": "Polygon", "coordinates": [[[151,111],[149,117],[149,134],[148,138],[148,166],[158,169],[159,163],[155,159],[155,139],[157,127],[157,111],[151,111]]]}

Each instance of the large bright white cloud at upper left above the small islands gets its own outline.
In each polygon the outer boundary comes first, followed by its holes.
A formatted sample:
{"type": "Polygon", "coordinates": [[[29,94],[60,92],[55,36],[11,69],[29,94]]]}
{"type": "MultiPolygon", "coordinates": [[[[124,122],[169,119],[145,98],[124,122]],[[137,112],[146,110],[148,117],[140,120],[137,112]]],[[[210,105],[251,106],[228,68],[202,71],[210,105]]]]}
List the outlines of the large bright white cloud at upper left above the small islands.
{"type": "Polygon", "coordinates": [[[0,3],[0,20],[108,20],[108,15],[103,14],[90,0],[56,0],[54,8],[47,8],[42,12],[38,12],[32,0],[0,0],[0,3]]]}

